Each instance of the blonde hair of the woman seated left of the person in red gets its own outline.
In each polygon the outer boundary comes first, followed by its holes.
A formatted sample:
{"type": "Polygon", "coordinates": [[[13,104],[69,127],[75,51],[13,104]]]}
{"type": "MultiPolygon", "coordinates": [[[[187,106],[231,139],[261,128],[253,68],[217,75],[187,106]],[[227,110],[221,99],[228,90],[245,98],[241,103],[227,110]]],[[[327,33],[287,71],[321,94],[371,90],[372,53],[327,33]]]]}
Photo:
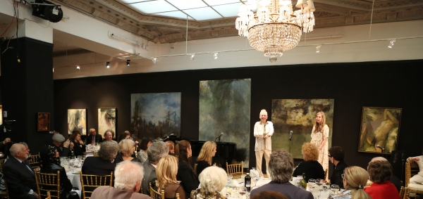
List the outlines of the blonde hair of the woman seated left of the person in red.
{"type": "Polygon", "coordinates": [[[343,180],[347,182],[348,190],[351,190],[351,199],[372,199],[363,187],[367,184],[369,174],[362,167],[346,167],[343,180]]]}

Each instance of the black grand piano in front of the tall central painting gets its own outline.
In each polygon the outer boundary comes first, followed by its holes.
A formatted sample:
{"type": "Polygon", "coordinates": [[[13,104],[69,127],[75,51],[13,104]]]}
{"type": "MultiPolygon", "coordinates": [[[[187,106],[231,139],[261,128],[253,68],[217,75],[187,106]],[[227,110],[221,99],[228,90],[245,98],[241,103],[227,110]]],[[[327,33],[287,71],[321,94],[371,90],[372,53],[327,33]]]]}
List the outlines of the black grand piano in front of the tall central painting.
{"type": "MultiPolygon", "coordinates": [[[[200,154],[200,150],[206,141],[190,140],[183,138],[176,138],[176,136],[168,136],[164,141],[171,140],[175,143],[181,140],[188,140],[191,143],[192,150],[192,167],[197,161],[197,157],[200,154]]],[[[217,166],[226,169],[226,162],[231,163],[236,156],[236,143],[232,142],[216,142],[216,155],[214,155],[213,162],[216,162],[217,166]]]]}

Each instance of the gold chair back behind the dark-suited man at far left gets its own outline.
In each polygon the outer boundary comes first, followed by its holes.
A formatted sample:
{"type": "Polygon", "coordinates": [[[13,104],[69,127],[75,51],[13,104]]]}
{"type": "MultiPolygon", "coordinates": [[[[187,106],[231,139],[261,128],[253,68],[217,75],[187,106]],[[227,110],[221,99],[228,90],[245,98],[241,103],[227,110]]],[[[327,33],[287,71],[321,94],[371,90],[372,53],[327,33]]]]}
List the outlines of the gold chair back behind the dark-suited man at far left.
{"type": "Polygon", "coordinates": [[[37,182],[37,189],[39,198],[48,197],[48,192],[51,193],[51,198],[60,198],[60,172],[56,174],[44,174],[35,171],[35,181],[37,182]],[[43,197],[44,196],[44,197],[43,197]]]}

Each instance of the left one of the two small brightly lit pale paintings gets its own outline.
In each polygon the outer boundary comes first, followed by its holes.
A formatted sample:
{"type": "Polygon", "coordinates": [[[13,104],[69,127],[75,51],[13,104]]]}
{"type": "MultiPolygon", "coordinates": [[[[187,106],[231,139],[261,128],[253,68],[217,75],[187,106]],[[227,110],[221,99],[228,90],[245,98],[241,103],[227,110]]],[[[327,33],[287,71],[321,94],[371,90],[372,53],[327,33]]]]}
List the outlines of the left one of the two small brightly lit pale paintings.
{"type": "Polygon", "coordinates": [[[87,134],[87,110],[68,109],[68,134],[77,130],[81,135],[87,134]]]}

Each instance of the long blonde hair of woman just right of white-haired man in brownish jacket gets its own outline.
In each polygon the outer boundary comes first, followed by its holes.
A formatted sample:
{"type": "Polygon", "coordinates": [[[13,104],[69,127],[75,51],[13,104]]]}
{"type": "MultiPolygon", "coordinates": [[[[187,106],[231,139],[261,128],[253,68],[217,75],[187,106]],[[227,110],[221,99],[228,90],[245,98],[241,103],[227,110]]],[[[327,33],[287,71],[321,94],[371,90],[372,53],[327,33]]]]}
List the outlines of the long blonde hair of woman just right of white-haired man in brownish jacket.
{"type": "Polygon", "coordinates": [[[157,163],[156,168],[157,182],[159,190],[168,183],[178,183],[176,174],[178,174],[178,158],[172,155],[164,155],[157,163]]]}

